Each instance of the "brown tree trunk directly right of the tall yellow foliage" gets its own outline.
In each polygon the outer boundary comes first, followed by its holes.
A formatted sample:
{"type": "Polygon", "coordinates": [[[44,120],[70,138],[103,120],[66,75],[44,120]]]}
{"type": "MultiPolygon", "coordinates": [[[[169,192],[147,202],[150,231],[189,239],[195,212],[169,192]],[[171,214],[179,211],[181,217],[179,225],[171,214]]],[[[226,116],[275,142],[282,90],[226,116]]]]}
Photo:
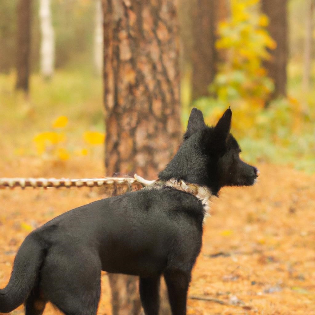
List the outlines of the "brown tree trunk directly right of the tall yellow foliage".
{"type": "Polygon", "coordinates": [[[277,47],[270,51],[271,59],[264,62],[269,77],[274,81],[272,98],[286,96],[288,26],[287,0],[262,0],[262,11],[269,18],[268,31],[276,41],[277,47]]]}

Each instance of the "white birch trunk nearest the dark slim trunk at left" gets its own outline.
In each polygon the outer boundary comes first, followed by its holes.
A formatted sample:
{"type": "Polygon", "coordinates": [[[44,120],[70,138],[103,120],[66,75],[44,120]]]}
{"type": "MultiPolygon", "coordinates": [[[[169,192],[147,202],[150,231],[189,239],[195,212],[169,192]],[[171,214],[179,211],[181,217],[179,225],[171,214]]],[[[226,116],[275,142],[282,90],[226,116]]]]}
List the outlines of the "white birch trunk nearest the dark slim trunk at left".
{"type": "Polygon", "coordinates": [[[54,74],[54,29],[51,21],[50,0],[40,0],[39,19],[42,33],[41,41],[41,73],[45,78],[54,74]]]}

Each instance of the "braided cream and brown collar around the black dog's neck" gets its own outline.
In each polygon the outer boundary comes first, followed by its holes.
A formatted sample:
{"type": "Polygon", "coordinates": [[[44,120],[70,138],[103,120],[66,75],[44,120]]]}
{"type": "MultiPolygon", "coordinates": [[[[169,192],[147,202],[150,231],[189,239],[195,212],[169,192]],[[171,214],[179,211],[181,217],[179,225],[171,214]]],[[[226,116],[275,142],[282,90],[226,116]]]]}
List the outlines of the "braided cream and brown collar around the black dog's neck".
{"type": "Polygon", "coordinates": [[[197,184],[186,183],[184,180],[176,180],[175,178],[171,178],[167,181],[161,180],[145,180],[139,175],[135,174],[135,179],[138,180],[143,186],[166,186],[166,187],[173,187],[177,190],[181,190],[183,192],[187,192],[196,198],[198,198],[202,204],[203,209],[205,210],[205,217],[209,216],[210,211],[210,198],[214,196],[214,194],[210,191],[209,188],[205,186],[199,186],[197,184]]]}

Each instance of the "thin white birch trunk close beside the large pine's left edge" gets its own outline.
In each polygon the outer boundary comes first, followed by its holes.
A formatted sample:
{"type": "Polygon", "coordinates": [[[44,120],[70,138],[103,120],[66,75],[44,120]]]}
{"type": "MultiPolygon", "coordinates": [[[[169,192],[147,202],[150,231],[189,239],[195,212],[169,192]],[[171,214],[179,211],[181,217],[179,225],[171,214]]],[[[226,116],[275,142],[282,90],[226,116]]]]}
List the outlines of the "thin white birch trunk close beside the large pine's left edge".
{"type": "Polygon", "coordinates": [[[95,0],[94,65],[97,74],[103,71],[103,13],[101,0],[95,0]]]}

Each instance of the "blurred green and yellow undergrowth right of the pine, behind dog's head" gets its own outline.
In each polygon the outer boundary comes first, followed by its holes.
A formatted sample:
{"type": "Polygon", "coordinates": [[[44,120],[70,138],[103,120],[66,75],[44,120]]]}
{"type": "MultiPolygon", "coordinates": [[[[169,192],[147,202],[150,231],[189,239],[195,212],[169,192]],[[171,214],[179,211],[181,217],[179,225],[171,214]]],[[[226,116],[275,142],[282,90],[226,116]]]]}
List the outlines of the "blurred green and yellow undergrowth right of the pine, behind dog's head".
{"type": "MultiPolygon", "coordinates": [[[[315,73],[315,62],[312,65],[315,73]]],[[[315,173],[315,89],[314,77],[308,93],[303,92],[302,65],[288,65],[288,99],[272,102],[266,111],[251,108],[251,104],[235,102],[222,104],[214,98],[204,97],[191,104],[189,74],[182,79],[183,122],[186,123],[190,108],[198,107],[206,120],[212,119],[231,105],[233,111],[232,133],[242,147],[242,157],[250,163],[264,161],[290,165],[307,173],[315,173]]]]}

